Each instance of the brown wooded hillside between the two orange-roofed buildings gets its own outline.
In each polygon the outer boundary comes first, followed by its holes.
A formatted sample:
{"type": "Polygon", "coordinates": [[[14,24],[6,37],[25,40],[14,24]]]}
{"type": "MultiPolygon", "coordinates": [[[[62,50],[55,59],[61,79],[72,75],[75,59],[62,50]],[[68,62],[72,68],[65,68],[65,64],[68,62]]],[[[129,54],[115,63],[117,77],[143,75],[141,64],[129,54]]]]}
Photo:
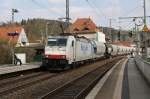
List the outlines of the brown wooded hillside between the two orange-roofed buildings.
{"type": "Polygon", "coordinates": [[[63,33],[66,28],[65,22],[45,19],[28,19],[22,20],[20,23],[27,34],[30,42],[42,40],[46,35],[46,24],[48,27],[48,35],[58,35],[63,33]]]}

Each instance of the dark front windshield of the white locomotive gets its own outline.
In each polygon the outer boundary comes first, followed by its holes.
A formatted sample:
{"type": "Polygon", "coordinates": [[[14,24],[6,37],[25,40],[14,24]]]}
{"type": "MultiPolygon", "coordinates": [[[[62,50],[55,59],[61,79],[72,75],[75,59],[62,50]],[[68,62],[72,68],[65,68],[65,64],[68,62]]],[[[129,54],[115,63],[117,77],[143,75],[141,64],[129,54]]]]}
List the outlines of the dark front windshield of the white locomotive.
{"type": "Polygon", "coordinates": [[[66,46],[67,38],[50,38],[48,39],[48,46],[66,46]]]}

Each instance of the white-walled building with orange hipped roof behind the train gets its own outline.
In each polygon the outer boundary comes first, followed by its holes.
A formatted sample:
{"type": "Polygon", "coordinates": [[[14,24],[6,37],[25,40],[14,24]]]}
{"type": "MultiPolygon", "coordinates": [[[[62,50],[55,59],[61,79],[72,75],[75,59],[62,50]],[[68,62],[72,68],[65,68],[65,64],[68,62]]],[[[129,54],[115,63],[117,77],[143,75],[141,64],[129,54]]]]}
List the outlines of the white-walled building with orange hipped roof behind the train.
{"type": "Polygon", "coordinates": [[[99,42],[106,42],[105,34],[97,28],[91,18],[78,18],[66,29],[65,34],[84,36],[99,42]]]}

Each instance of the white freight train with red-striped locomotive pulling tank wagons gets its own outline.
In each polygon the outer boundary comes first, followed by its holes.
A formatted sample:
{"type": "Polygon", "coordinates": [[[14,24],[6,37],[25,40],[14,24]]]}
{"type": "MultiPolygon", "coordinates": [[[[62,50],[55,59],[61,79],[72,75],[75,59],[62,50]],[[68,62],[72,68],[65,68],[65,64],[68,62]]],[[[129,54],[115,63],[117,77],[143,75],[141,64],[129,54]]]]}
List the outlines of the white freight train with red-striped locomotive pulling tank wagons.
{"type": "Polygon", "coordinates": [[[49,36],[42,68],[65,69],[115,55],[129,54],[133,47],[118,46],[76,36],[49,36]]]}

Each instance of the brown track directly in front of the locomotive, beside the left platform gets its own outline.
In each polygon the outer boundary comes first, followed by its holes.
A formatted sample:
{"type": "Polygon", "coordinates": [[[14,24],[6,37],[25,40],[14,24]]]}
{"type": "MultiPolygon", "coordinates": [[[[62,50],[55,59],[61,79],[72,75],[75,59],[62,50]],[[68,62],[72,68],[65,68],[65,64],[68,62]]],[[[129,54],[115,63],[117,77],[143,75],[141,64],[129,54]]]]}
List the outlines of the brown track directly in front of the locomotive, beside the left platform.
{"type": "Polygon", "coordinates": [[[17,90],[32,86],[36,83],[48,80],[55,77],[57,74],[49,72],[37,72],[30,75],[9,78],[0,81],[0,97],[9,93],[13,93],[17,90]]]}

